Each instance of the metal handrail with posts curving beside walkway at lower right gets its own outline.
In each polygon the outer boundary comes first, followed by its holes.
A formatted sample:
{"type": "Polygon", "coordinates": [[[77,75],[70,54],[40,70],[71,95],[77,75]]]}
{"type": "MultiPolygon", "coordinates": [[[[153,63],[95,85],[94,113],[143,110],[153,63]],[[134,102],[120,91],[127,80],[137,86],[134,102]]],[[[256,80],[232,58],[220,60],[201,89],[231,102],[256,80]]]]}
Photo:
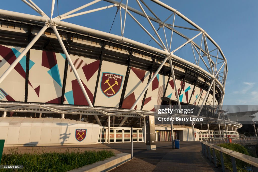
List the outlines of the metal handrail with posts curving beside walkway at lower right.
{"type": "MultiPolygon", "coordinates": [[[[255,141],[256,141],[258,139],[257,137],[248,137],[248,138],[243,138],[243,141],[245,141],[243,143],[248,143],[247,140],[251,141],[252,139],[255,139],[255,141]],[[248,138],[251,138],[251,139],[248,139],[248,138]]],[[[207,142],[207,141],[214,142],[214,140],[217,140],[217,141],[221,140],[221,143],[227,143],[228,139],[229,138],[215,138],[215,139],[206,139],[206,140],[201,141],[201,148],[202,148],[203,155],[205,155],[205,157],[208,158],[210,162],[212,162],[212,154],[213,154],[213,163],[214,163],[215,167],[218,167],[217,166],[217,158],[216,158],[216,154],[215,154],[215,150],[218,150],[220,152],[220,161],[221,161],[221,167],[222,167],[223,172],[225,171],[223,153],[230,156],[233,172],[237,172],[236,159],[239,159],[241,161],[244,161],[244,162],[250,164],[252,166],[252,170],[255,172],[256,171],[258,172],[258,158],[254,158],[249,155],[245,155],[243,153],[239,153],[239,152],[235,152],[235,151],[232,151],[232,150],[229,150],[226,148],[222,148],[220,146],[217,146],[217,145],[207,142]],[[212,154],[211,154],[210,148],[212,149],[212,154]]],[[[233,138],[231,138],[231,139],[233,139],[233,138]]],[[[240,139],[242,139],[242,137],[240,137],[240,139]]],[[[235,140],[239,140],[239,138],[236,138],[235,140]]]]}

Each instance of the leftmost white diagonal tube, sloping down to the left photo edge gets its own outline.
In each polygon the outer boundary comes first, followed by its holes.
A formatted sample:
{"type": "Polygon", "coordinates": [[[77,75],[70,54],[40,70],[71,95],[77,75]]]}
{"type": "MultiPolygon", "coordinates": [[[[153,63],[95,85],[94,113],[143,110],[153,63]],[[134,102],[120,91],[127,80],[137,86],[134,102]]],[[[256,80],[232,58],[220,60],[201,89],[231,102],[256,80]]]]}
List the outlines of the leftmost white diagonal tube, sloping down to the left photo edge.
{"type": "Polygon", "coordinates": [[[25,56],[25,54],[29,51],[29,49],[37,42],[39,37],[46,31],[48,27],[45,25],[38,34],[31,40],[31,42],[27,45],[27,47],[21,52],[21,54],[18,56],[17,59],[14,60],[14,62],[9,66],[9,68],[3,73],[3,75],[0,77],[0,84],[2,81],[7,77],[7,75],[12,71],[12,69],[20,62],[20,60],[25,56]]]}

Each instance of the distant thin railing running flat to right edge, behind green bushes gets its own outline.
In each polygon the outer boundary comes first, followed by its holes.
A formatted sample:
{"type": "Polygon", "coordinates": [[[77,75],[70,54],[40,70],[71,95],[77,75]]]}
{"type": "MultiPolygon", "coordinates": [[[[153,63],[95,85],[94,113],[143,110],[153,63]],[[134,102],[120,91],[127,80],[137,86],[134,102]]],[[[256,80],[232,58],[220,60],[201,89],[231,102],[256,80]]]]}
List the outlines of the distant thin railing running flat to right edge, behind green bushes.
{"type": "Polygon", "coordinates": [[[204,139],[208,143],[221,144],[221,143],[253,143],[258,142],[258,137],[232,137],[232,138],[208,138],[204,139]]]}

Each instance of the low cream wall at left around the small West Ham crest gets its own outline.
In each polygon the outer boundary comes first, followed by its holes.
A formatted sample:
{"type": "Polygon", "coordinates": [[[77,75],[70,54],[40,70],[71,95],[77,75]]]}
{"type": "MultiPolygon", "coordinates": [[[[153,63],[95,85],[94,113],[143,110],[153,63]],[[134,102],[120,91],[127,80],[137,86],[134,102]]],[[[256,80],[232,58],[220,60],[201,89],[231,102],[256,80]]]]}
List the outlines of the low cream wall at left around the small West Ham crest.
{"type": "Polygon", "coordinates": [[[96,144],[99,130],[99,125],[70,119],[0,117],[5,146],[96,144]],[[87,129],[81,142],[76,140],[76,129],[87,129]]]}

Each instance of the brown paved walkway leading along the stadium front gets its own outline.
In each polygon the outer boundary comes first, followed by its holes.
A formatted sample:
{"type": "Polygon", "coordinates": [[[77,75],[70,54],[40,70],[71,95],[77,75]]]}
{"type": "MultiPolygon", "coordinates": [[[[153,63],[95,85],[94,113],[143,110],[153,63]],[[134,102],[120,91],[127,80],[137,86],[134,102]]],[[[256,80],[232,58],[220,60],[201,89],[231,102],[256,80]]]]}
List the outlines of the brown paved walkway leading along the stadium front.
{"type": "MultiPolygon", "coordinates": [[[[214,168],[201,153],[201,144],[196,141],[180,142],[180,149],[171,149],[171,142],[157,142],[157,149],[146,150],[146,143],[133,143],[134,158],[112,171],[220,171],[214,168]]],[[[53,152],[66,150],[113,150],[115,153],[131,153],[131,143],[96,145],[69,145],[45,147],[12,147],[18,152],[53,152]]],[[[4,148],[8,153],[10,147],[4,148]]]]}

